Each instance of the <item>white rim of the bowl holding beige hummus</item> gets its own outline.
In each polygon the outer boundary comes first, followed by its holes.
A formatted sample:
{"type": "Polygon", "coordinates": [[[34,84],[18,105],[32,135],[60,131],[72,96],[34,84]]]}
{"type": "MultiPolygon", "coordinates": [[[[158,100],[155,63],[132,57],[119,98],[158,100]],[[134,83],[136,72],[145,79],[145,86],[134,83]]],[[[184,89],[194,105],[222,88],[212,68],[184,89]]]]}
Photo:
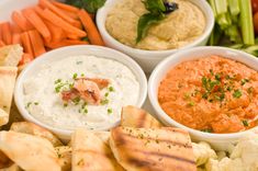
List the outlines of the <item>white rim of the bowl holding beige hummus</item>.
{"type": "MultiPolygon", "coordinates": [[[[109,34],[109,32],[105,29],[105,19],[106,19],[106,15],[109,13],[109,10],[110,10],[109,8],[115,5],[115,4],[112,4],[112,3],[115,3],[116,1],[117,0],[109,0],[109,1],[105,2],[105,4],[101,9],[98,10],[97,18],[96,18],[98,29],[99,29],[100,33],[102,34],[102,36],[106,37],[110,42],[112,42],[112,44],[114,46],[123,48],[126,52],[135,52],[135,53],[146,54],[145,56],[143,56],[143,58],[149,58],[148,54],[154,55],[153,58],[159,58],[158,56],[155,56],[155,55],[160,55],[160,54],[167,55],[168,53],[169,54],[177,53],[179,50],[197,46],[198,44],[201,44],[201,42],[203,42],[205,38],[207,38],[210,36],[210,34],[212,33],[213,27],[214,27],[215,19],[214,19],[214,14],[213,14],[211,5],[205,0],[200,0],[200,1],[197,1],[197,3],[194,3],[194,2],[192,2],[192,3],[198,5],[200,8],[200,10],[204,13],[204,16],[205,16],[205,20],[206,20],[206,27],[205,27],[203,34],[201,36],[199,36],[197,39],[194,39],[192,43],[187,44],[186,46],[182,46],[182,47],[177,48],[177,49],[147,50],[147,49],[133,48],[131,46],[124,45],[121,42],[116,41],[113,36],[111,36],[109,34]],[[106,5],[109,5],[109,7],[106,7],[106,5]],[[205,11],[201,9],[201,5],[203,5],[205,11]]],[[[190,0],[190,1],[192,1],[192,0],[190,0]]]]}

